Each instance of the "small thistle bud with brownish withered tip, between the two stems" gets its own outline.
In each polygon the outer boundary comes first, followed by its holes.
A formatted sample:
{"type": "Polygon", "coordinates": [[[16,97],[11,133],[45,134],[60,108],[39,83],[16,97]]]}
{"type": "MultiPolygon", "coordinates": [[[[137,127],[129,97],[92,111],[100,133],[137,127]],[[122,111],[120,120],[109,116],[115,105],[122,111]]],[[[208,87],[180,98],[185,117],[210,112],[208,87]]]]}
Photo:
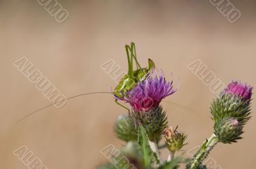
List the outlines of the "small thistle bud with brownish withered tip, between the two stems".
{"type": "Polygon", "coordinates": [[[169,151],[175,152],[179,151],[186,143],[184,141],[187,138],[183,132],[179,133],[177,131],[178,126],[173,130],[171,126],[166,128],[163,132],[166,147],[169,151]]]}

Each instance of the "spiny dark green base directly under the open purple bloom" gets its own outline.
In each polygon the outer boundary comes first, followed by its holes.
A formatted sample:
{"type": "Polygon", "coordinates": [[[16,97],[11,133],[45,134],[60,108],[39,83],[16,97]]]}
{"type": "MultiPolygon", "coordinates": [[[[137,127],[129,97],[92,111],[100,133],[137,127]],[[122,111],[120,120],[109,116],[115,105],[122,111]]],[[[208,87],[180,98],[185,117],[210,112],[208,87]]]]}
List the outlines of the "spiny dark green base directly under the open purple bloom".
{"type": "Polygon", "coordinates": [[[129,122],[134,133],[139,126],[143,126],[147,131],[149,140],[155,140],[161,136],[164,129],[168,126],[166,113],[161,106],[147,112],[136,112],[131,109],[129,112],[129,122]]]}

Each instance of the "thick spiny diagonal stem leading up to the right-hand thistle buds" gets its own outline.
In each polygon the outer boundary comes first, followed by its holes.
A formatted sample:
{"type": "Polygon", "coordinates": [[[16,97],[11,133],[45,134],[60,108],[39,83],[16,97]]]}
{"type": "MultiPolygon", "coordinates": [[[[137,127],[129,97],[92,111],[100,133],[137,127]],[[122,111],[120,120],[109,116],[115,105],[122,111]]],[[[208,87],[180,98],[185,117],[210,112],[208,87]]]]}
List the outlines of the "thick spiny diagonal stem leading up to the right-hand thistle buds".
{"type": "Polygon", "coordinates": [[[212,150],[214,145],[218,143],[218,138],[216,135],[212,134],[212,136],[205,140],[205,142],[202,144],[200,149],[196,152],[196,154],[193,156],[193,158],[189,161],[188,165],[186,166],[186,169],[196,169],[202,161],[207,157],[209,152],[212,150]]]}

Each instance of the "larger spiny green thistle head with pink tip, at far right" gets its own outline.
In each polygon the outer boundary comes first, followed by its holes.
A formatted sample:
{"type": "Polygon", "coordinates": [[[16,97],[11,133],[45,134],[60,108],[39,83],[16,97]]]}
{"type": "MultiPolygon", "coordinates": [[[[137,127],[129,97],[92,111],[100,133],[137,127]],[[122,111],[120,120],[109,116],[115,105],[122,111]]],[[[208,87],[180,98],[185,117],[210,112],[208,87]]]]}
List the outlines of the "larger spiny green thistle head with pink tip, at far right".
{"type": "Polygon", "coordinates": [[[241,82],[231,82],[212,102],[211,114],[215,124],[225,117],[235,117],[244,125],[250,119],[252,87],[241,82]]]}

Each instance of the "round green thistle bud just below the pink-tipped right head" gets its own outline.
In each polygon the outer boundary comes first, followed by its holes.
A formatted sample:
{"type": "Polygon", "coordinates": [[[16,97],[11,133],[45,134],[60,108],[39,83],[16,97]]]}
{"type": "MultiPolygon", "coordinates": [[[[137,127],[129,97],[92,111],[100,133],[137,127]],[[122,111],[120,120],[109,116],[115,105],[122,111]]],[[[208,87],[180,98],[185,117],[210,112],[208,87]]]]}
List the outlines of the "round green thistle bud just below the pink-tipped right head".
{"type": "Polygon", "coordinates": [[[222,143],[237,142],[242,133],[243,125],[234,117],[225,117],[214,125],[214,134],[222,143]]]}

